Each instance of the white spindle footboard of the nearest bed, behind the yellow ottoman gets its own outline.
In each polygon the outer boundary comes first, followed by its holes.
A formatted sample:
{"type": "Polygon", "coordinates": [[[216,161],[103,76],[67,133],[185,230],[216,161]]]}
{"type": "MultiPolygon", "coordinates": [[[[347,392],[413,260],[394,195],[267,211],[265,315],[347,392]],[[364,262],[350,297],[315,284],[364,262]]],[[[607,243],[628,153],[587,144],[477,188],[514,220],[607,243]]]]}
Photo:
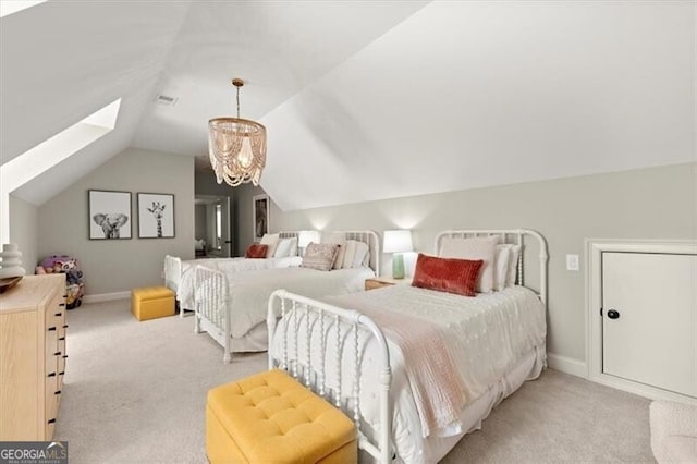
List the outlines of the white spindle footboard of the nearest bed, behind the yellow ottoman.
{"type": "Polygon", "coordinates": [[[277,290],[269,298],[269,369],[281,368],[341,408],[356,424],[358,447],[378,462],[391,460],[392,370],[388,344],[367,316],[277,290]],[[277,322],[277,318],[281,317],[277,322]],[[278,330],[277,330],[278,329],[278,330]],[[377,343],[379,424],[371,434],[360,404],[360,361],[368,343],[377,343]],[[315,358],[315,359],[314,359],[315,358]],[[346,391],[346,383],[352,391],[346,391]],[[343,391],[342,391],[343,390],[343,391]],[[375,438],[370,438],[374,436],[375,438]]]}

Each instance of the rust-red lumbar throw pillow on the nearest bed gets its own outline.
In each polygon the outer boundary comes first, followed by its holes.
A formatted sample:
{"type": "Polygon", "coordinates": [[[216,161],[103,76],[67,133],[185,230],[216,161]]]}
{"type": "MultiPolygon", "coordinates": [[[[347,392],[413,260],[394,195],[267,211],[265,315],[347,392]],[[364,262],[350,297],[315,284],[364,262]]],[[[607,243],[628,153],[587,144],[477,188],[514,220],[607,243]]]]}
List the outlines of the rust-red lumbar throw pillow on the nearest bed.
{"type": "Polygon", "coordinates": [[[416,258],[413,286],[475,296],[484,260],[439,258],[423,253],[416,258]]]}

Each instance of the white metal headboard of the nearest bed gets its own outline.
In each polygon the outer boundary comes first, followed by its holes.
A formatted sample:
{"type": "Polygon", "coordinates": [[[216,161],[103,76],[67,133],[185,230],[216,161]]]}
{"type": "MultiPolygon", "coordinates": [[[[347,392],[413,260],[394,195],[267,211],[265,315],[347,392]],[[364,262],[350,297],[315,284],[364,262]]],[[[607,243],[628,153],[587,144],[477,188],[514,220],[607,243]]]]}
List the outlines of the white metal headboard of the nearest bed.
{"type": "Polygon", "coordinates": [[[472,239],[477,236],[489,236],[489,235],[499,235],[501,237],[501,243],[511,243],[521,245],[521,253],[518,254],[518,262],[517,269],[515,272],[515,283],[517,285],[525,285],[525,260],[529,259],[525,258],[526,255],[526,246],[525,239],[531,237],[538,243],[538,259],[539,259],[539,271],[540,271],[540,281],[539,281],[539,291],[538,294],[545,307],[547,307],[547,260],[549,255],[547,254],[547,242],[545,237],[534,230],[529,229],[499,229],[499,230],[477,230],[477,229],[458,229],[458,230],[449,230],[439,232],[436,236],[436,249],[435,254],[438,255],[440,251],[441,241],[443,237],[461,237],[461,239],[472,239]]]}

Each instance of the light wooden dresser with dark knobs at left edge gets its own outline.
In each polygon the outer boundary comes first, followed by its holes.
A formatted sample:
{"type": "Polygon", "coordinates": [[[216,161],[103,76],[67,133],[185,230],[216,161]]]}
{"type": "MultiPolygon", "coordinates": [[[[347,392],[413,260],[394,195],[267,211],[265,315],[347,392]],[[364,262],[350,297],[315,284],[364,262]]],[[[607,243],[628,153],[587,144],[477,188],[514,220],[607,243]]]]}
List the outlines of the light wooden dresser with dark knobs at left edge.
{"type": "Polygon", "coordinates": [[[0,295],[0,441],[49,441],[65,373],[65,274],[0,295]]]}

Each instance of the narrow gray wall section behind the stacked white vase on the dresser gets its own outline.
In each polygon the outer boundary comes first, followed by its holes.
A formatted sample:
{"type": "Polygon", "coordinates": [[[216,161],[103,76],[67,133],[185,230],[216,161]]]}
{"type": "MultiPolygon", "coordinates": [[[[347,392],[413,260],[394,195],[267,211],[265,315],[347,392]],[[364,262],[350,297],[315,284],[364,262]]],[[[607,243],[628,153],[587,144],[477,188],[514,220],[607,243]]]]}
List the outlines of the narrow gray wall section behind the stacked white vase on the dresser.
{"type": "Polygon", "coordinates": [[[38,264],[39,209],[25,200],[10,195],[10,243],[22,252],[22,267],[27,274],[34,273],[38,264]]]}

